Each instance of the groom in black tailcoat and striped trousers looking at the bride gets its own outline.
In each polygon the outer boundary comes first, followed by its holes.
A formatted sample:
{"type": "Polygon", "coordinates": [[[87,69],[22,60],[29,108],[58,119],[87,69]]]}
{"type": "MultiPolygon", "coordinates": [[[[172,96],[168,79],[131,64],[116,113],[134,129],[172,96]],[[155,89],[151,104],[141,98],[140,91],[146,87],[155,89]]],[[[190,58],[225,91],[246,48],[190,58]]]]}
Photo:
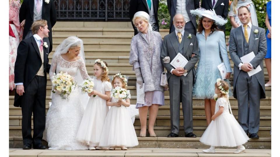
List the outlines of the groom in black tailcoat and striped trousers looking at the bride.
{"type": "Polygon", "coordinates": [[[46,86],[50,71],[47,43],[43,38],[49,34],[46,20],[37,20],[31,27],[33,36],[20,42],[15,61],[15,101],[14,106],[22,110],[22,149],[46,149],[42,145],[46,124],[46,86]],[[31,136],[31,116],[33,113],[33,138],[31,136]]]}

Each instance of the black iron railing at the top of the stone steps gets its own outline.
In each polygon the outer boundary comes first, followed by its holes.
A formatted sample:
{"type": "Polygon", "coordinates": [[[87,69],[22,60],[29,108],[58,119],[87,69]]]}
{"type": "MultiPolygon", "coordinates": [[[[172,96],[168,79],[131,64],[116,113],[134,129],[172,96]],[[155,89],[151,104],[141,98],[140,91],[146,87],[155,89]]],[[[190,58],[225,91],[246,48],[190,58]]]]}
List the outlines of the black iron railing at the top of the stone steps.
{"type": "Polygon", "coordinates": [[[129,21],[129,0],[54,0],[58,21],[129,21]]]}

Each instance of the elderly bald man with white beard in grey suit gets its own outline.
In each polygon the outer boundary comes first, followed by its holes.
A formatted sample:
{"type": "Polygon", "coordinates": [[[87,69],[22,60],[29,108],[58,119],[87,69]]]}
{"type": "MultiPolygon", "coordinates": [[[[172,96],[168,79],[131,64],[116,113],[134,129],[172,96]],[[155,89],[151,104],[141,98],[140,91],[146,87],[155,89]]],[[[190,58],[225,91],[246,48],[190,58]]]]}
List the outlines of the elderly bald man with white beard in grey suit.
{"type": "Polygon", "coordinates": [[[173,18],[175,31],[166,35],[161,49],[161,62],[167,69],[170,95],[171,133],[167,137],[178,137],[180,127],[180,102],[182,102],[185,137],[195,138],[192,133],[192,85],[195,80],[195,64],[198,61],[198,45],[196,36],[184,30],[183,15],[176,14],[173,18]],[[181,53],[188,63],[185,67],[174,69],[170,60],[181,53]],[[193,54],[193,57],[192,57],[193,54]],[[183,74],[188,72],[186,76],[183,74]]]}

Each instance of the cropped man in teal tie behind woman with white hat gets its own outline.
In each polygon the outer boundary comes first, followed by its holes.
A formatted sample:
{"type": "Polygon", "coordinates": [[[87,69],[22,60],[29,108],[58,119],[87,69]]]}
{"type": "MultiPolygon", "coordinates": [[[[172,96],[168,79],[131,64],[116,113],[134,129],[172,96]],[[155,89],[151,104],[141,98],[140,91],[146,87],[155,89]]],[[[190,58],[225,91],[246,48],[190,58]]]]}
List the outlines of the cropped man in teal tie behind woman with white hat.
{"type": "MultiPolygon", "coordinates": [[[[150,15],[150,23],[153,24],[153,31],[159,32],[159,25],[157,19],[159,0],[130,0],[129,2],[129,18],[132,21],[134,14],[138,11],[144,11],[150,15]]],[[[138,34],[136,27],[131,22],[134,29],[134,35],[138,34]]]]}

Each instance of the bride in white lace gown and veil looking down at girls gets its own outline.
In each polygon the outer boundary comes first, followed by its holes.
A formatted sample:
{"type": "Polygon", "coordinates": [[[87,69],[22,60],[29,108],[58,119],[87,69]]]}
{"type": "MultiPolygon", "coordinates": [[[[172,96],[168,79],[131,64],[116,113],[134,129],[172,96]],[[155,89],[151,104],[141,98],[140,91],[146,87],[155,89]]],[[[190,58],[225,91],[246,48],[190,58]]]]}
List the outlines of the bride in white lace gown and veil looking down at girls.
{"type": "MultiPolygon", "coordinates": [[[[88,79],[84,58],[83,40],[75,36],[65,39],[53,55],[49,72],[51,81],[54,73],[61,71],[74,77],[77,85],[83,79],[88,79]]],[[[87,101],[88,98],[78,87],[71,91],[68,100],[61,99],[57,92],[52,94],[52,104],[47,113],[44,132],[49,149],[88,149],[75,139],[84,113],[81,102],[87,101]]]]}

